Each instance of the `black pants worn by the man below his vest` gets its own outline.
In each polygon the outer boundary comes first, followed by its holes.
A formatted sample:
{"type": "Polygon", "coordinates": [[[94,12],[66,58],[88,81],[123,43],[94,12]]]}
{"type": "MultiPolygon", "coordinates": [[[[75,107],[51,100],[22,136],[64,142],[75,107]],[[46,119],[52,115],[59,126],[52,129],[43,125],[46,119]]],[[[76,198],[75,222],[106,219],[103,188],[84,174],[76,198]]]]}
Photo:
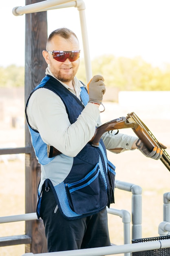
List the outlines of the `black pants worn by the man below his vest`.
{"type": "Polygon", "coordinates": [[[59,210],[50,189],[43,189],[40,216],[44,221],[48,252],[103,247],[110,245],[106,208],[97,214],[67,220],[59,210]]]}

